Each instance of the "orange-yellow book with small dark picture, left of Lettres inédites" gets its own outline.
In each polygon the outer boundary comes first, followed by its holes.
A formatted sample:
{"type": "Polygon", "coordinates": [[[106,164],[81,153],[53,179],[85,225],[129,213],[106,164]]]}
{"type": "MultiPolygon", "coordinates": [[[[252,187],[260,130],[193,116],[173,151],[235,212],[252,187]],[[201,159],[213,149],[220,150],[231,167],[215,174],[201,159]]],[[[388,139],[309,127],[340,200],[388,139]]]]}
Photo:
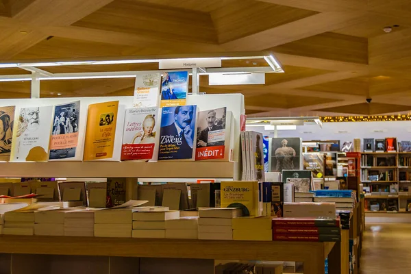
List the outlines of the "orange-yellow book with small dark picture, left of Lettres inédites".
{"type": "Polygon", "coordinates": [[[88,106],[84,161],[113,157],[119,101],[88,106]]]}

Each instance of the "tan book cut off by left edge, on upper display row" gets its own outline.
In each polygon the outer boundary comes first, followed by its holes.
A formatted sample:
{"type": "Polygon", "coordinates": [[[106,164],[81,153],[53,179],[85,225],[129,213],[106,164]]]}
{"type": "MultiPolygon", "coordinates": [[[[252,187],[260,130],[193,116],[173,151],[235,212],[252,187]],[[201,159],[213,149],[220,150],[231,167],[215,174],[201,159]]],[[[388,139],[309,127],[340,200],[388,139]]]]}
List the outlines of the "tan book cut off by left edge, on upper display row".
{"type": "Polygon", "coordinates": [[[0,107],[0,160],[10,161],[16,106],[0,107]]]}

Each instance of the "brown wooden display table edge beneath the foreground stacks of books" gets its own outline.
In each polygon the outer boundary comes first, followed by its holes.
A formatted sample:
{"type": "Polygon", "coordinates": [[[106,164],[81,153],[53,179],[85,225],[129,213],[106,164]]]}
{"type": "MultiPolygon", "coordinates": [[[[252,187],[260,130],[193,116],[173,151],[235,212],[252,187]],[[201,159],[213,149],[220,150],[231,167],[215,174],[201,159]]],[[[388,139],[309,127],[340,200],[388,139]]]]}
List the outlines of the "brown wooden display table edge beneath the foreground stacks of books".
{"type": "MultiPolygon", "coordinates": [[[[0,253],[295,261],[304,263],[304,274],[324,273],[333,247],[334,242],[0,236],[0,253]]],[[[338,264],[329,259],[330,274],[340,273],[338,264]]]]}

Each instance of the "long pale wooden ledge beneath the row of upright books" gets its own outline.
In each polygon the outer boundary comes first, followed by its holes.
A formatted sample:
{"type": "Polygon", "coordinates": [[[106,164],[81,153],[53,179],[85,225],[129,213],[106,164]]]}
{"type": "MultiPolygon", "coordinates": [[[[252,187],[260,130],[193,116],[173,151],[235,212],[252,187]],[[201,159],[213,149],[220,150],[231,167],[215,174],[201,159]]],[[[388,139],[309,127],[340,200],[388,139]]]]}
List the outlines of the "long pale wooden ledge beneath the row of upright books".
{"type": "Polygon", "coordinates": [[[237,162],[0,162],[0,177],[154,177],[231,178],[239,176],[237,162]],[[238,171],[238,172],[237,172],[238,171]]]}

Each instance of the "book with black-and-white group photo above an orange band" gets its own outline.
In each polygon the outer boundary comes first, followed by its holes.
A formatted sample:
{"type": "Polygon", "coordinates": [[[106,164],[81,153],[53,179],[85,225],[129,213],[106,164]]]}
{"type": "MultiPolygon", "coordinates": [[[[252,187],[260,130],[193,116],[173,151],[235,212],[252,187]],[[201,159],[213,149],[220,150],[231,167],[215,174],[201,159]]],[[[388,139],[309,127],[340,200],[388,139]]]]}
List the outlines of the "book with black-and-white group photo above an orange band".
{"type": "Polygon", "coordinates": [[[80,101],[54,106],[49,160],[75,158],[79,138],[80,101]]]}

